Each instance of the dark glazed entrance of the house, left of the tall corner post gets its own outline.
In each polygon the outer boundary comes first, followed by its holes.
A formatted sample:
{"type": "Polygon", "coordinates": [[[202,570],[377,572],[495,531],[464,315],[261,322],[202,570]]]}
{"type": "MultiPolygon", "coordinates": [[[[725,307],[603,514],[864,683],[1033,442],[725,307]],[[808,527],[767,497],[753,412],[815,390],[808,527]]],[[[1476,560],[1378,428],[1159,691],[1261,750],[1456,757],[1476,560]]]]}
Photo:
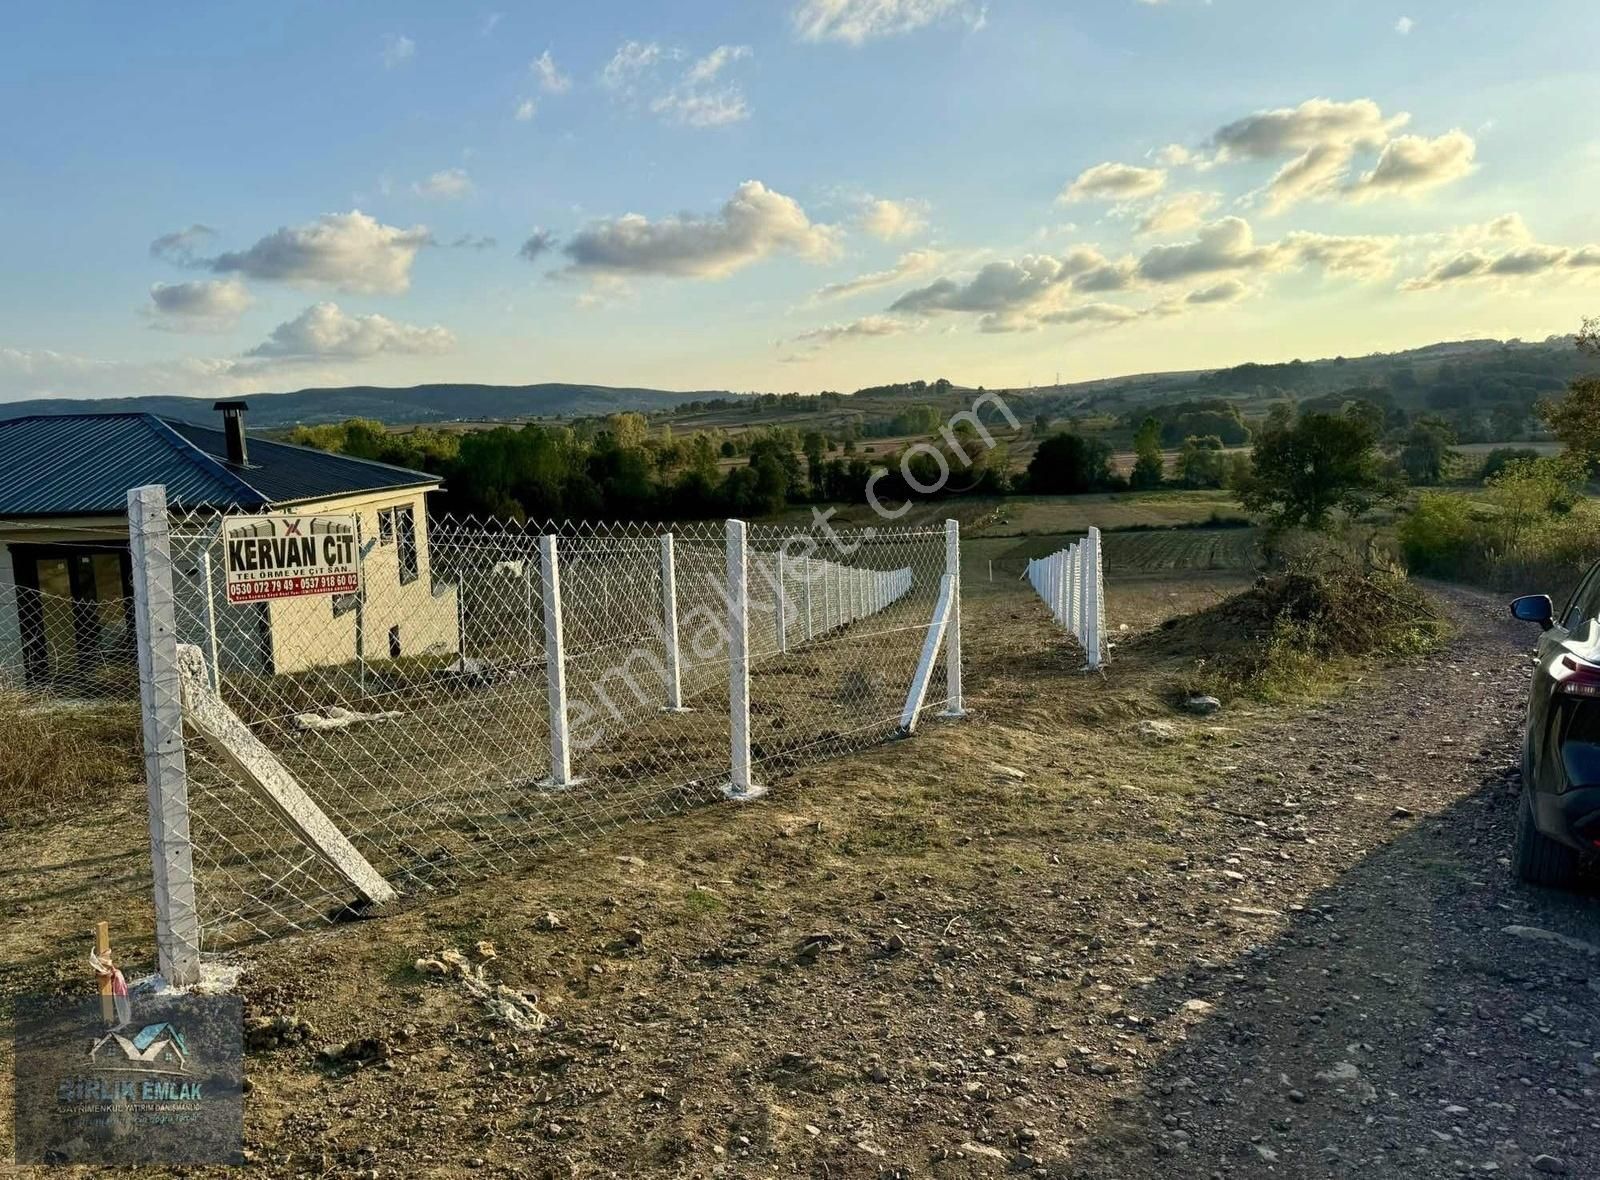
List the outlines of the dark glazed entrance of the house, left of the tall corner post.
{"type": "Polygon", "coordinates": [[[18,624],[30,683],[91,691],[133,660],[133,568],[125,545],[13,545],[18,624]]]}

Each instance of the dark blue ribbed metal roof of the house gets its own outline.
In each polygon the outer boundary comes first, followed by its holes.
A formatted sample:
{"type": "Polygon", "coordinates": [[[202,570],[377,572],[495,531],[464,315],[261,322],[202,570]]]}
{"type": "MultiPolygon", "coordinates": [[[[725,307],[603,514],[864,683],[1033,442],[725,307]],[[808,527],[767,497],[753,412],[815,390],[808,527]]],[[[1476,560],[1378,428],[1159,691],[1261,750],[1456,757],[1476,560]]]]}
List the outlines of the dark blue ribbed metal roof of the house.
{"type": "Polygon", "coordinates": [[[304,446],[250,440],[227,462],[221,430],[155,414],[42,414],[0,422],[0,518],[118,515],[128,489],[166,484],[181,508],[274,504],[438,483],[438,476],[304,446]]]}

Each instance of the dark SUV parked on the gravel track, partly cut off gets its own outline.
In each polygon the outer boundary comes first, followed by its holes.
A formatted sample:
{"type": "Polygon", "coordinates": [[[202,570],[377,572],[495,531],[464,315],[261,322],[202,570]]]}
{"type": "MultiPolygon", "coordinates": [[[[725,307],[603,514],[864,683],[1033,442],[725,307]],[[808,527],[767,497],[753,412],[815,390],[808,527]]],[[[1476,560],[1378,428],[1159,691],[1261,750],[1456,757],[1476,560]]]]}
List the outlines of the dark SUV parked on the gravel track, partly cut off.
{"type": "Polygon", "coordinates": [[[1523,881],[1566,886],[1600,851],[1600,563],[1555,616],[1549,595],[1510,604],[1544,628],[1522,742],[1512,862],[1523,881]]]}

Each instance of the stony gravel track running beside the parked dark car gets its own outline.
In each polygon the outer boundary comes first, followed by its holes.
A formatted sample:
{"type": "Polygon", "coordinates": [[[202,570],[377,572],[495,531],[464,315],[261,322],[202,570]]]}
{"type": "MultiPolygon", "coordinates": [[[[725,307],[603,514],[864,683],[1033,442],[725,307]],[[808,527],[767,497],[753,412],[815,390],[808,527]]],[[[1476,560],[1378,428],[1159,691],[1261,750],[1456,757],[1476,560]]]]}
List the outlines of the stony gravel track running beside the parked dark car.
{"type": "Polygon", "coordinates": [[[1238,759],[1245,870],[1272,873],[1291,814],[1347,868],[1173,980],[1192,1031],[1069,1174],[1600,1177],[1600,905],[1507,871],[1533,635],[1442,593],[1448,651],[1238,759]]]}

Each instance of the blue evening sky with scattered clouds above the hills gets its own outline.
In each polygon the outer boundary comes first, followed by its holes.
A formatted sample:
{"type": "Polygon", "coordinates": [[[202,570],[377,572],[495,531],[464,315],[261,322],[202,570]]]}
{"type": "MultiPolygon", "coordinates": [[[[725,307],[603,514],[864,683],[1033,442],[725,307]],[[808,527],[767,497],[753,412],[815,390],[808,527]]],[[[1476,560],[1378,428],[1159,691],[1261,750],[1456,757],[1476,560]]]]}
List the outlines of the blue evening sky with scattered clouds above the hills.
{"type": "Polygon", "coordinates": [[[16,6],[0,400],[1010,389],[1600,312],[1592,0],[16,6]]]}

